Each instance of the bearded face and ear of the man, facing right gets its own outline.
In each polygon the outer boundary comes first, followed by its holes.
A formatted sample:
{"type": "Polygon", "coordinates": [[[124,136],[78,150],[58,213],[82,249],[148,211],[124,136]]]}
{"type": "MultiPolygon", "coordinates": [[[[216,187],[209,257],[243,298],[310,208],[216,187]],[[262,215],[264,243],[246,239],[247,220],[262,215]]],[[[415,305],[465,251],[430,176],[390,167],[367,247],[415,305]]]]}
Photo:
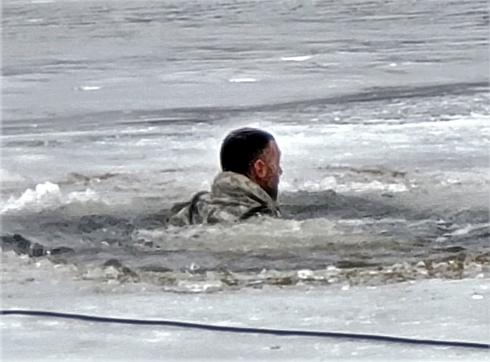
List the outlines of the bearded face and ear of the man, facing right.
{"type": "Polygon", "coordinates": [[[263,188],[273,200],[277,200],[281,151],[275,141],[270,141],[262,155],[255,161],[255,182],[263,188]]]}

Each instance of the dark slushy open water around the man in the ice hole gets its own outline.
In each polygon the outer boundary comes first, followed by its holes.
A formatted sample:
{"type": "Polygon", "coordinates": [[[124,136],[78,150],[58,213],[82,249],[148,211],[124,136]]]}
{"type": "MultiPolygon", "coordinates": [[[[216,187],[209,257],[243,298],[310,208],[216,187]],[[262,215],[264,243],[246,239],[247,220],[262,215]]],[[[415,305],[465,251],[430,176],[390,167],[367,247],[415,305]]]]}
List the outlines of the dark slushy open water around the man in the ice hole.
{"type": "Polygon", "coordinates": [[[444,212],[383,197],[390,201],[333,191],[290,193],[282,198],[285,220],[185,230],[167,229],[165,210],[137,217],[64,217],[62,210],[4,217],[4,227],[15,224],[14,229],[33,237],[30,248],[19,247],[19,236],[10,234],[3,237],[3,247],[56,264],[74,263],[82,278],[144,281],[170,290],[186,290],[178,282],[188,279],[212,285],[218,280],[211,289],[221,290],[303,279],[320,285],[346,280],[376,285],[486,273],[488,208],[444,212]],[[110,266],[118,270],[116,277],[103,272],[110,266]],[[303,270],[307,277],[301,276],[303,270]]]}

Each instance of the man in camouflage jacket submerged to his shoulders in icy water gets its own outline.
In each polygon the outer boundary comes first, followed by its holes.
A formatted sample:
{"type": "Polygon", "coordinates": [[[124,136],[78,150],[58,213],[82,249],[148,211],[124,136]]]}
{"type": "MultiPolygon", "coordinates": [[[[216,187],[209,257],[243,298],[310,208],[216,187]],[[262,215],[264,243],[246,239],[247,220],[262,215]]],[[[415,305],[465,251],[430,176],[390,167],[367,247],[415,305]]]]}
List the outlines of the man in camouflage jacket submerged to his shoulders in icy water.
{"type": "Polygon", "coordinates": [[[234,222],[255,215],[279,216],[277,187],[281,152],[268,132],[255,128],[232,131],[221,145],[222,172],[211,192],[175,205],[173,225],[234,222]]]}

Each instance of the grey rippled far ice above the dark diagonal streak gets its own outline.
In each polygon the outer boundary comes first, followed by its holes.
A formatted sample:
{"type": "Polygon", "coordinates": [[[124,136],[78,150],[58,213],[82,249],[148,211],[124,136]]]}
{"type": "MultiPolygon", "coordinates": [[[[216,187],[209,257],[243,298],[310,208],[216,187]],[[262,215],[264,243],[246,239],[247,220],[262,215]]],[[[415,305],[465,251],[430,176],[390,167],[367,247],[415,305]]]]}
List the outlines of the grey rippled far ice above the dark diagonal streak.
{"type": "Polygon", "coordinates": [[[488,79],[485,0],[4,5],[8,119],[274,104],[488,79]]]}

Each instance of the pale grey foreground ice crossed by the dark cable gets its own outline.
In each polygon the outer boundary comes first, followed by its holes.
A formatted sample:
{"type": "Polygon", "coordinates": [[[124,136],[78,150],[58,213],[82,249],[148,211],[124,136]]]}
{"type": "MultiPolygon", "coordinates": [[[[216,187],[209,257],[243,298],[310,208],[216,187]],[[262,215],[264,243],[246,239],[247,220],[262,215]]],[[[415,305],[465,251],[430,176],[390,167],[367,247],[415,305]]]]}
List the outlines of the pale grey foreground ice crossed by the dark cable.
{"type": "MultiPolygon", "coordinates": [[[[423,281],[373,288],[271,287],[211,294],[161,293],[152,285],[113,284],[66,278],[70,266],[31,263],[3,253],[2,307],[119,318],[170,319],[274,329],[379,334],[406,338],[488,343],[488,279],[423,281]],[[61,276],[61,277],[60,277],[61,276]],[[24,279],[25,278],[25,279],[24,279]],[[64,290],[64,293],[59,293],[64,290]],[[53,294],[57,297],[53,298],[53,294]],[[76,302],[75,302],[76,301],[76,302]]],[[[4,316],[2,354],[8,360],[83,359],[368,359],[481,361],[487,351],[339,340],[227,334],[171,327],[121,326],[64,319],[4,316]],[[22,333],[16,331],[22,330],[22,333]],[[103,338],[101,338],[103,336],[103,338]],[[226,343],[222,343],[223,338],[226,343]],[[55,342],[62,341],[62,344],[55,342]],[[164,351],[164,352],[162,352],[164,351]]]]}

